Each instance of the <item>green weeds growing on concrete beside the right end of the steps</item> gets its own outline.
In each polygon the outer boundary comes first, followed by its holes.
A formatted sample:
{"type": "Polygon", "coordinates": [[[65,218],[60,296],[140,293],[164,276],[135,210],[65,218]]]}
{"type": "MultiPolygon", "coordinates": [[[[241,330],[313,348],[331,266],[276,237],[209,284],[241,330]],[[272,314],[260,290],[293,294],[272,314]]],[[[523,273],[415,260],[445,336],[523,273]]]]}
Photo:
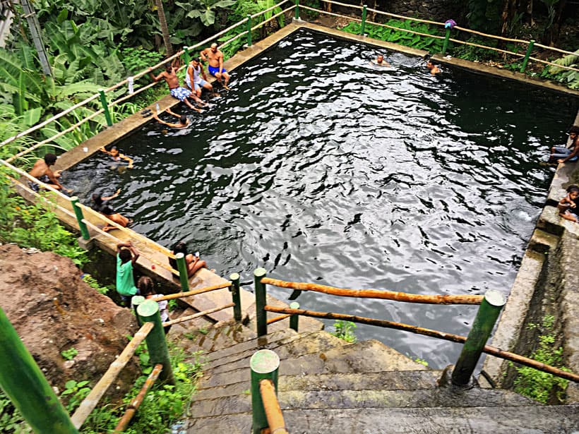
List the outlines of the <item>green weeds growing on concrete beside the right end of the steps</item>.
{"type": "MultiPolygon", "coordinates": [[[[547,315],[543,318],[542,330],[540,330],[543,334],[539,336],[539,348],[531,354],[530,358],[541,363],[546,363],[547,365],[555,366],[561,370],[569,371],[563,367],[563,348],[561,346],[554,348],[555,336],[554,334],[548,333],[552,330],[554,322],[555,318],[552,315],[547,315]]],[[[527,328],[534,330],[537,328],[537,325],[530,324],[527,328]]],[[[515,392],[535,399],[542,404],[553,403],[553,399],[556,400],[557,404],[563,403],[568,380],[528,366],[521,366],[515,369],[517,370],[515,392]]]]}

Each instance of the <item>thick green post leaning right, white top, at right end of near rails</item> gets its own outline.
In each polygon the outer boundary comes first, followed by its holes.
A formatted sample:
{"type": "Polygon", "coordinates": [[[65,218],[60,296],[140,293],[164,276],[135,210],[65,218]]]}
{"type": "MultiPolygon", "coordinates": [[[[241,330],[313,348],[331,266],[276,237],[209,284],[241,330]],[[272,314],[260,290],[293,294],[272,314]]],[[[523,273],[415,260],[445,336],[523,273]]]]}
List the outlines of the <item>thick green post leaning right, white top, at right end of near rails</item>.
{"type": "Polygon", "coordinates": [[[499,318],[499,313],[505,303],[506,299],[499,291],[491,289],[484,294],[477,317],[474,318],[472,328],[453,370],[453,385],[465,387],[469,384],[470,376],[477,366],[482,349],[487,344],[494,323],[499,318]]]}

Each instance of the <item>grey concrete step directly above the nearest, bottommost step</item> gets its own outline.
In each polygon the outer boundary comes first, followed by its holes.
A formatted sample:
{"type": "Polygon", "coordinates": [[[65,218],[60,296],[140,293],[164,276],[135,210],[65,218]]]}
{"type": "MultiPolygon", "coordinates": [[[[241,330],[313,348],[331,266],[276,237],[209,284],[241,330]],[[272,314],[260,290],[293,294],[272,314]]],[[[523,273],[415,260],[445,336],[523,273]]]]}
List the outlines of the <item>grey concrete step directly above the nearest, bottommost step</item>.
{"type": "MultiPolygon", "coordinates": [[[[454,390],[436,387],[416,390],[289,390],[277,395],[283,411],[293,409],[367,409],[367,408],[443,408],[524,406],[532,404],[514,392],[479,389],[454,390]]],[[[251,396],[237,396],[195,401],[191,417],[219,416],[251,411],[251,396]]]]}

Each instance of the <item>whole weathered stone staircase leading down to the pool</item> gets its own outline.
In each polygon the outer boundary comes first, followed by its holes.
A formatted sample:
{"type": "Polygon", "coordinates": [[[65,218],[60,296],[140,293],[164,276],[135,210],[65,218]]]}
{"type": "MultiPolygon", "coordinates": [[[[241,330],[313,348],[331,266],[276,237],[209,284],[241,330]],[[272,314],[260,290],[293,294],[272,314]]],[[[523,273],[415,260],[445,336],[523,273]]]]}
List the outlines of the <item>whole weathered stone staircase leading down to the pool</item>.
{"type": "Polygon", "coordinates": [[[172,339],[186,351],[204,351],[186,433],[251,433],[249,358],[263,348],[280,356],[278,398],[291,433],[579,432],[579,406],[542,406],[507,390],[457,390],[446,372],[376,340],[348,344],[315,325],[297,333],[278,324],[261,338],[233,322],[174,326],[172,339]]]}

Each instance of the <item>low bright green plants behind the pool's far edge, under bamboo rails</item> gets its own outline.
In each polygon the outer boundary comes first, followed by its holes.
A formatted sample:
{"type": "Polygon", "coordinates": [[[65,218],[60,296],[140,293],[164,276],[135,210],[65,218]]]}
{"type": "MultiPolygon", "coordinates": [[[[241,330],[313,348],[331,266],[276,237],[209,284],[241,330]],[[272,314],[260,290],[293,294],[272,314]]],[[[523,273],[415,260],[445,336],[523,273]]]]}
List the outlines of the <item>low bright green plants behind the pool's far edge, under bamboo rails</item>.
{"type": "MultiPolygon", "coordinates": [[[[380,25],[366,24],[364,31],[369,37],[377,40],[394,42],[395,44],[417,49],[425,49],[429,52],[439,53],[442,51],[443,40],[438,40],[434,37],[413,35],[412,33],[405,31],[412,30],[415,32],[426,33],[428,35],[436,35],[438,33],[437,28],[431,28],[429,25],[423,23],[414,23],[410,20],[389,20],[386,24],[395,27],[395,29],[385,28],[380,25]]],[[[350,22],[342,28],[342,30],[348,33],[353,33],[354,35],[359,35],[361,28],[362,25],[360,23],[350,22]]]]}

